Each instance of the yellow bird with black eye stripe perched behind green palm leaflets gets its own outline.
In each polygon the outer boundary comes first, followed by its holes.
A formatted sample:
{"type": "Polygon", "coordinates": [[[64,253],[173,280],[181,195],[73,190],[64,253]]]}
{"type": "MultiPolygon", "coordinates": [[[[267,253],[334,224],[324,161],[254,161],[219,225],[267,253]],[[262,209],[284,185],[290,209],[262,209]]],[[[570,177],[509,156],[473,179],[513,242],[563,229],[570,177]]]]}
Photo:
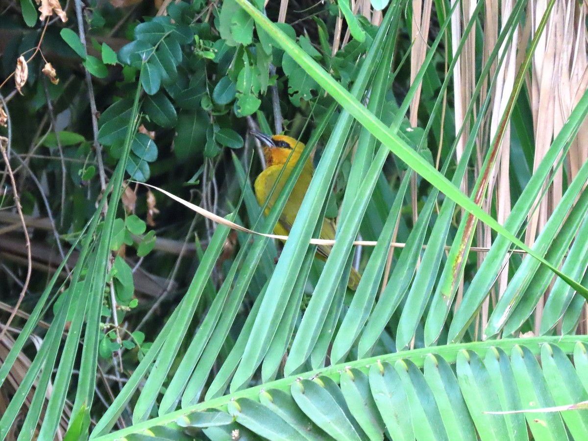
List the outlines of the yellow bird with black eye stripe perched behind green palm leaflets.
{"type": "MultiPolygon", "coordinates": [[[[269,193],[272,191],[273,185],[278,179],[280,171],[282,171],[282,169],[284,170],[278,185],[276,185],[276,189],[270,196],[268,205],[265,208],[265,215],[267,216],[273,204],[278,199],[280,192],[284,188],[286,181],[288,181],[296,162],[300,159],[300,155],[302,155],[305,145],[286,135],[269,136],[260,132],[252,132],[252,134],[262,143],[263,156],[265,156],[266,162],[266,169],[255,179],[254,185],[255,196],[260,206],[265,204],[269,193]],[[292,153],[292,156],[290,156],[290,153],[292,153]],[[290,157],[290,159],[288,159],[288,157],[290,157]]],[[[312,165],[311,155],[304,165],[304,169],[302,170],[302,173],[300,173],[298,182],[296,182],[292,193],[290,193],[290,197],[278,219],[278,223],[276,223],[276,226],[273,229],[273,232],[277,235],[288,236],[290,233],[290,229],[292,229],[294,219],[298,214],[300,205],[302,205],[302,199],[308,190],[310,179],[312,178],[314,171],[315,169],[312,165]]],[[[320,232],[320,238],[335,239],[335,231],[335,222],[333,222],[332,219],[323,219],[323,228],[320,232]]],[[[330,246],[319,245],[316,249],[316,257],[321,260],[326,260],[329,256],[330,250],[330,246]]],[[[349,288],[355,291],[358,288],[360,279],[361,276],[359,273],[352,268],[349,275],[349,288]]]]}

